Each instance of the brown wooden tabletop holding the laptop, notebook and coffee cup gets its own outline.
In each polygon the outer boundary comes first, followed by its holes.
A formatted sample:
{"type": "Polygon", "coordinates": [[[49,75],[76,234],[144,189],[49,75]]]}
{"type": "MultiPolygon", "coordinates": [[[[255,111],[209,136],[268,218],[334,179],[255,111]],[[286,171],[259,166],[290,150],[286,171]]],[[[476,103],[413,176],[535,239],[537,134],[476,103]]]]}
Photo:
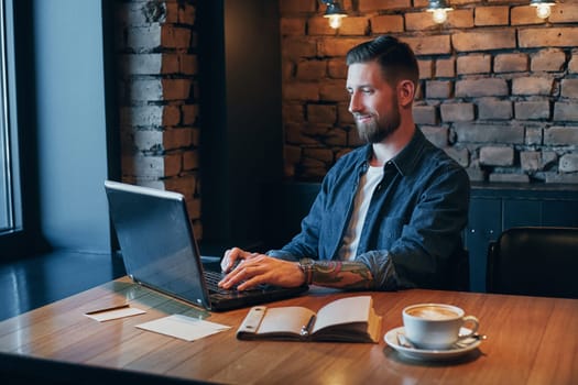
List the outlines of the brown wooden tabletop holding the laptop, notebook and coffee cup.
{"type": "MultiPolygon", "coordinates": [[[[309,295],[270,306],[317,310],[351,295],[313,288],[309,295]]],[[[448,302],[477,316],[488,340],[452,362],[411,361],[383,340],[239,341],[235,332],[247,309],[208,314],[121,278],[1,322],[0,351],[228,384],[578,384],[578,299],[422,289],[371,295],[383,316],[383,333],[402,324],[407,305],[448,302]],[[107,322],[84,316],[126,300],[146,314],[107,322]],[[134,327],[172,314],[232,328],[185,342],[134,327]]]]}

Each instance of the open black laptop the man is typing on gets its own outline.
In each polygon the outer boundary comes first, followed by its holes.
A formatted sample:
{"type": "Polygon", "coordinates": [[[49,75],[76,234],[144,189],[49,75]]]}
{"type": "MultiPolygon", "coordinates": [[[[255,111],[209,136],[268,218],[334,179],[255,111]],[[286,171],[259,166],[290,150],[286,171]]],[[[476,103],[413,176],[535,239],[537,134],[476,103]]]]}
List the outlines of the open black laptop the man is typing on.
{"type": "Polygon", "coordinates": [[[138,284],[214,311],[290,298],[308,289],[306,285],[221,289],[216,283],[223,273],[216,258],[204,265],[183,195],[111,180],[105,182],[105,190],[127,274],[138,284]]]}

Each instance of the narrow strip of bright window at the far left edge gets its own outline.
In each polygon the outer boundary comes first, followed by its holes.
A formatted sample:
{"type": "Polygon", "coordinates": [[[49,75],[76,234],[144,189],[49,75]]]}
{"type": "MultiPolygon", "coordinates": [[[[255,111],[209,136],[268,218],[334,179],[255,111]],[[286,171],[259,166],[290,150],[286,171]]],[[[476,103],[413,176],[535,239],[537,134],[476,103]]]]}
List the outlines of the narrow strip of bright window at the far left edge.
{"type": "Polygon", "coordinates": [[[11,6],[0,0],[0,235],[22,228],[11,6]]]}

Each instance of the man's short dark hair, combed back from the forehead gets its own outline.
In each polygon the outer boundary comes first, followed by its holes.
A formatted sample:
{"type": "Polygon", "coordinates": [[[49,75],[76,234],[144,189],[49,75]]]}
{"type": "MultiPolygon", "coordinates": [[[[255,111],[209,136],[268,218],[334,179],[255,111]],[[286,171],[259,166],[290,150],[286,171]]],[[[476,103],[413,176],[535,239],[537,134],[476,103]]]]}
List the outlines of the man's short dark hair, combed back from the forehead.
{"type": "Polygon", "coordinates": [[[408,79],[417,86],[419,69],[414,52],[406,43],[393,36],[379,36],[361,43],[347,53],[347,65],[375,61],[381,66],[383,77],[392,85],[408,79]]]}

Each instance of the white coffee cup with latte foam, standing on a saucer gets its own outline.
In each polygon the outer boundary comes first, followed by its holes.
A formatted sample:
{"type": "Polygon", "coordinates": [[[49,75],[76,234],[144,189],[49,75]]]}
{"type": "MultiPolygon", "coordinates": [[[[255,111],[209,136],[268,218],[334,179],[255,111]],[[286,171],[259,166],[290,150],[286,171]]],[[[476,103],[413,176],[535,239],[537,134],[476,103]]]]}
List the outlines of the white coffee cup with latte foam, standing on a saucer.
{"type": "Polygon", "coordinates": [[[465,316],[457,306],[446,304],[417,304],[403,309],[404,334],[416,348],[444,350],[478,330],[479,320],[465,316]],[[460,329],[470,331],[460,334],[460,329]]]}

